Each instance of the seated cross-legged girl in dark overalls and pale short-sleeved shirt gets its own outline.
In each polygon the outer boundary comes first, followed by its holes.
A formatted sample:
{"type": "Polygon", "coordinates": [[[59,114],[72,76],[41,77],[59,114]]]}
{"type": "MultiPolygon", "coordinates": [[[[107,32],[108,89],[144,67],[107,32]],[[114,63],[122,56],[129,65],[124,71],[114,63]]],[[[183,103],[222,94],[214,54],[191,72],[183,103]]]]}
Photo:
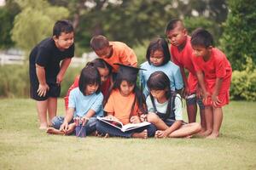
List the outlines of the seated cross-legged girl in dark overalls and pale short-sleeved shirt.
{"type": "Polygon", "coordinates": [[[184,123],[182,100],[179,94],[171,91],[170,80],[162,71],[156,71],[148,79],[150,94],[146,100],[148,122],[157,127],[156,138],[191,137],[201,131],[197,122],[184,123]]]}

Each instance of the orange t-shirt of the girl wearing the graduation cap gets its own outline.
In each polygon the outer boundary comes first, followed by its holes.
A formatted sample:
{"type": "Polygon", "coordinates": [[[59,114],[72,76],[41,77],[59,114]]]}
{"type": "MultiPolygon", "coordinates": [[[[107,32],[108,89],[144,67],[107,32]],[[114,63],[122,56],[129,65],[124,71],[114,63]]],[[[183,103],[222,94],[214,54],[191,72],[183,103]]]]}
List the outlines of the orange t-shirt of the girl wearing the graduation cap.
{"type": "MultiPolygon", "coordinates": [[[[135,94],[129,96],[123,96],[119,93],[119,89],[114,89],[108,102],[104,107],[104,111],[108,112],[119,119],[124,125],[130,122],[131,107],[135,99],[135,94]]],[[[134,105],[134,110],[131,116],[139,116],[139,109],[137,105],[134,105]]]]}

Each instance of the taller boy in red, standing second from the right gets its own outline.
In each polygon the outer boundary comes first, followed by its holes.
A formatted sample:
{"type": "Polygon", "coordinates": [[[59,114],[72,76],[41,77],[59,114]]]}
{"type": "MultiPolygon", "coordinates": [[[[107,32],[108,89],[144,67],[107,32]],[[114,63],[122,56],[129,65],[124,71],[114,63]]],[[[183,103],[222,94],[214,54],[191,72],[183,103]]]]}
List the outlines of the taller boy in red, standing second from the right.
{"type": "Polygon", "coordinates": [[[183,26],[182,20],[171,20],[166,26],[166,36],[171,42],[171,54],[172,62],[180,67],[184,90],[183,97],[186,99],[187,112],[189,117],[189,122],[196,121],[197,103],[200,107],[201,115],[201,132],[206,130],[205,122],[205,110],[204,105],[201,102],[200,96],[195,95],[198,91],[197,89],[197,78],[195,75],[195,68],[192,62],[192,48],[190,44],[190,37],[188,32],[183,26]],[[189,77],[186,77],[184,68],[189,71],[189,77]],[[197,99],[196,99],[197,97],[197,99]]]}

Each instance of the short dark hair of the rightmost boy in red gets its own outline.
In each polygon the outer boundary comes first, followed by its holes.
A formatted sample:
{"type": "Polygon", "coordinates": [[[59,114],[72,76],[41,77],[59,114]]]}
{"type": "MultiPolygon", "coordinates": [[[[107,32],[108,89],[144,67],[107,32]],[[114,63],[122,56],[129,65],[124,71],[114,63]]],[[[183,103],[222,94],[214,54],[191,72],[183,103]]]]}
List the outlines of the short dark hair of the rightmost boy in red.
{"type": "Polygon", "coordinates": [[[197,28],[192,32],[190,42],[192,46],[202,46],[208,48],[209,46],[213,46],[213,37],[209,31],[202,28],[197,28]]]}

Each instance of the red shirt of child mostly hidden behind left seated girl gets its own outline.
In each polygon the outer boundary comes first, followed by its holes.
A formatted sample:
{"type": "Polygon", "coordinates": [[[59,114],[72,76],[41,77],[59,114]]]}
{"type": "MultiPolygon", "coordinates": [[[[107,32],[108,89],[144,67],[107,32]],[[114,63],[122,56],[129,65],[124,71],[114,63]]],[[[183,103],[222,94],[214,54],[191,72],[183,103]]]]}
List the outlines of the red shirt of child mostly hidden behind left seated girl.
{"type": "MultiPolygon", "coordinates": [[[[110,83],[111,83],[110,78],[108,78],[107,81],[103,82],[101,85],[101,92],[104,97],[106,97],[108,94],[108,88],[110,87],[110,83]]],[[[67,90],[67,95],[64,97],[66,110],[68,108],[68,97],[69,97],[71,90],[73,90],[73,88],[78,88],[78,87],[79,87],[79,76],[75,77],[73,84],[67,90]]]]}

